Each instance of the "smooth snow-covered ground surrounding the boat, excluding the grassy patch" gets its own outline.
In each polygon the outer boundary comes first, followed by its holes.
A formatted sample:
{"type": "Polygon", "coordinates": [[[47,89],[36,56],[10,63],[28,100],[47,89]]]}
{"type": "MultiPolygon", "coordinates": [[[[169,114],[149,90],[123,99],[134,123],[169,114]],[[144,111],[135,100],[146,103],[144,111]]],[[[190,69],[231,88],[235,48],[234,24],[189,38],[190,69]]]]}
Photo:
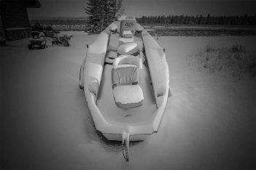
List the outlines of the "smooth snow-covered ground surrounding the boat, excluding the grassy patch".
{"type": "Polygon", "coordinates": [[[206,44],[241,44],[256,37],[160,37],[172,96],[158,134],[130,147],[96,134],[78,88],[86,44],[28,50],[27,40],[0,47],[1,166],[4,169],[253,169],[256,81],[229,81],[188,66],[187,54],[206,44]]]}

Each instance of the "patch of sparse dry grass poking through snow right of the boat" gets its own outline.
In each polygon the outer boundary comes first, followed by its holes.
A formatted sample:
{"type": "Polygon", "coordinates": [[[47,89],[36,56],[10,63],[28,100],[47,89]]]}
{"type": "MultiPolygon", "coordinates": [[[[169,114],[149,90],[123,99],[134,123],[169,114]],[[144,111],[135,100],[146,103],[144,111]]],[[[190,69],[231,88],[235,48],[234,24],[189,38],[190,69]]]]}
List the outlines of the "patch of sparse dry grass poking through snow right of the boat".
{"type": "Polygon", "coordinates": [[[256,76],[256,55],[235,44],[230,47],[206,45],[188,56],[190,65],[209,73],[230,76],[235,79],[253,78],[256,76]]]}

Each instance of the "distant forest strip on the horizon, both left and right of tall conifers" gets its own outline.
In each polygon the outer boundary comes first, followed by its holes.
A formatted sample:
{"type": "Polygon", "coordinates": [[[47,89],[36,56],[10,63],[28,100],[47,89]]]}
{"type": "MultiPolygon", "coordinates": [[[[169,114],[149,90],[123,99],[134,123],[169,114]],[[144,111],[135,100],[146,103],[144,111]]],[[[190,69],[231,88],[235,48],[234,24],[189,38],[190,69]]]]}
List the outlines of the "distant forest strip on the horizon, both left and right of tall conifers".
{"type": "MultiPolygon", "coordinates": [[[[136,17],[141,24],[179,24],[179,25],[256,25],[256,15],[244,16],[190,16],[190,15],[158,15],[136,17]]],[[[46,17],[33,18],[31,25],[87,25],[86,17],[46,17]]]]}

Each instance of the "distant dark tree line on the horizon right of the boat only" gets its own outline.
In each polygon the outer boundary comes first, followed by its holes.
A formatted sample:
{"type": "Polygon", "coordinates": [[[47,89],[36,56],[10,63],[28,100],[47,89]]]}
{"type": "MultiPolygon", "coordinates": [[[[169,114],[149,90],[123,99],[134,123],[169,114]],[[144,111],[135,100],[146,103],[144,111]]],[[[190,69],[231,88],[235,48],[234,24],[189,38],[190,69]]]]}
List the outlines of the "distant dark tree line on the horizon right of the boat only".
{"type": "Polygon", "coordinates": [[[256,15],[220,16],[210,15],[158,15],[136,18],[138,23],[185,24],[185,25],[256,25],[256,15]]]}

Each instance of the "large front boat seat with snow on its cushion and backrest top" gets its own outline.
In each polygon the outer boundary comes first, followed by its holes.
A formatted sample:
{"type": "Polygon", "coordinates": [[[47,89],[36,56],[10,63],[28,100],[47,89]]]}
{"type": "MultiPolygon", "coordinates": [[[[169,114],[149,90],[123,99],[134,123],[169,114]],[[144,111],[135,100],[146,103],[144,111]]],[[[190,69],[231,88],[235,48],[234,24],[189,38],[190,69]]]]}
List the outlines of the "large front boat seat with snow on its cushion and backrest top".
{"type": "Polygon", "coordinates": [[[113,97],[117,107],[128,109],[143,104],[144,96],[139,86],[141,59],[134,56],[117,57],[112,68],[113,97]]]}

